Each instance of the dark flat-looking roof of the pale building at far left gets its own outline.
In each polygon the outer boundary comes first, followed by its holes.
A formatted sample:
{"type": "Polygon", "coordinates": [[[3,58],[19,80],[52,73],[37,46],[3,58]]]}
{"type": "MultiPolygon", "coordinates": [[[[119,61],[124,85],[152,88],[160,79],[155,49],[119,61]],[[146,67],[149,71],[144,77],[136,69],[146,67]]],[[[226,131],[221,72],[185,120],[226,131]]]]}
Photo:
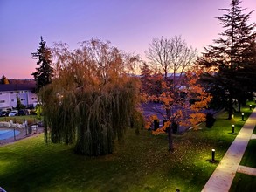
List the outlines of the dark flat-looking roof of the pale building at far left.
{"type": "Polygon", "coordinates": [[[28,84],[0,84],[0,92],[11,91],[33,91],[36,88],[35,83],[28,84]]]}

